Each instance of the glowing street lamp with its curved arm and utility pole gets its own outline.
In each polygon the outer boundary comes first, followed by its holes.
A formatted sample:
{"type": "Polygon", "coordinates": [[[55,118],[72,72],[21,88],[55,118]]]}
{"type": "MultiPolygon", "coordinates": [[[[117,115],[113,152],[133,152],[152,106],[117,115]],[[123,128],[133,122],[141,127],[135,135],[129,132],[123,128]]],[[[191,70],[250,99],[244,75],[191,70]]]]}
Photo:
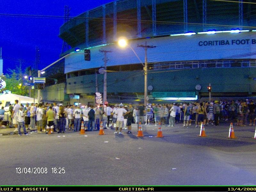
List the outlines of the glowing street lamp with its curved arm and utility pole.
{"type": "MultiPolygon", "coordinates": [[[[120,38],[118,40],[118,45],[120,47],[132,47],[127,43],[126,38],[120,38]]],[[[136,57],[140,60],[140,63],[143,65],[144,69],[144,106],[147,106],[147,97],[148,97],[148,59],[147,59],[147,50],[148,48],[154,48],[156,46],[148,46],[147,41],[145,42],[145,45],[138,45],[137,47],[143,47],[145,49],[145,65],[142,63],[136,52],[132,49],[136,57]]]]}

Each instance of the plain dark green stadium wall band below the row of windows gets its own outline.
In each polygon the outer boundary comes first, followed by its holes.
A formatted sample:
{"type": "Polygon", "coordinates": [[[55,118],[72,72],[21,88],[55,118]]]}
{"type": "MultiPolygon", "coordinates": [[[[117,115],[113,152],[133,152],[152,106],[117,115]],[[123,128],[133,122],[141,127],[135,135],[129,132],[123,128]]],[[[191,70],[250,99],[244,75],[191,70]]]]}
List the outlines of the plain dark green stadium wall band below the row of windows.
{"type": "MultiPolygon", "coordinates": [[[[243,96],[256,94],[256,68],[195,68],[148,73],[148,92],[196,92],[195,86],[202,89],[196,94],[207,95],[207,86],[212,85],[212,94],[225,96],[228,93],[243,96]],[[218,94],[217,94],[218,93],[218,94]]],[[[103,92],[103,75],[98,75],[99,92],[103,92]]],[[[107,74],[107,92],[120,94],[144,93],[143,71],[112,72],[107,74]]],[[[67,94],[95,93],[95,75],[78,76],[67,79],[67,94]]],[[[125,95],[125,94],[123,94],[125,95]]]]}

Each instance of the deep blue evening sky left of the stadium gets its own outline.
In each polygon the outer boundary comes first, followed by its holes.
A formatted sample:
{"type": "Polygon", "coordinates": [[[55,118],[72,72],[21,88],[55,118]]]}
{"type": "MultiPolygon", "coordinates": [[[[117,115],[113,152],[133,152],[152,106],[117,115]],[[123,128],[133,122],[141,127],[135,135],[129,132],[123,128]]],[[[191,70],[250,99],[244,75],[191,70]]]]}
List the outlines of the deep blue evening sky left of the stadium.
{"type": "MultiPolygon", "coordinates": [[[[0,3],[0,14],[64,16],[64,5],[68,5],[70,16],[77,16],[87,10],[113,0],[7,0],[0,3]]],[[[36,60],[36,46],[40,49],[39,69],[59,59],[62,40],[58,37],[64,19],[6,17],[0,15],[0,47],[4,59],[4,73],[15,68],[21,60],[22,68],[33,66],[36,60]]]]}

